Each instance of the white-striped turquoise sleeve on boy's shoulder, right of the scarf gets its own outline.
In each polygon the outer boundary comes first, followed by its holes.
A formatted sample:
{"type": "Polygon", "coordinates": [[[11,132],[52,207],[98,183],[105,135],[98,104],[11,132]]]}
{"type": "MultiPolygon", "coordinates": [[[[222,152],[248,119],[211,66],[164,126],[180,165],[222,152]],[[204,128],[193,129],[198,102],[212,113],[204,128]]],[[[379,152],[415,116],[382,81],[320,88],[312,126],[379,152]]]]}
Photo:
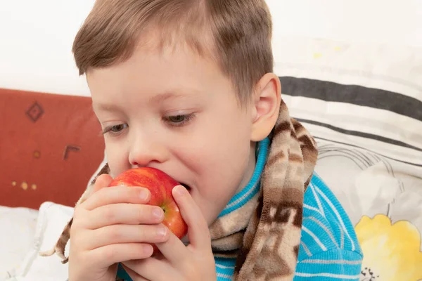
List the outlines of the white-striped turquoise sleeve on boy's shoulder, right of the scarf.
{"type": "Polygon", "coordinates": [[[295,280],[317,275],[358,280],[361,266],[362,250],[349,216],[326,183],[314,173],[304,197],[295,280]]]}

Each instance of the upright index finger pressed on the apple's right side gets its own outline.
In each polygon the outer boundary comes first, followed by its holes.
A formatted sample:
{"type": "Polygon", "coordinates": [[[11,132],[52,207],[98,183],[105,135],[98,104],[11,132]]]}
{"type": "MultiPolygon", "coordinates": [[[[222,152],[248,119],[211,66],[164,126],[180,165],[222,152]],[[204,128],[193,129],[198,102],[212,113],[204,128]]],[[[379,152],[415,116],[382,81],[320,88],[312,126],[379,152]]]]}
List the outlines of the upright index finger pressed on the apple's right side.
{"type": "Polygon", "coordinates": [[[182,185],[172,190],[172,195],[179,206],[181,216],[188,225],[188,237],[191,245],[196,249],[211,249],[210,231],[202,211],[182,185]]]}

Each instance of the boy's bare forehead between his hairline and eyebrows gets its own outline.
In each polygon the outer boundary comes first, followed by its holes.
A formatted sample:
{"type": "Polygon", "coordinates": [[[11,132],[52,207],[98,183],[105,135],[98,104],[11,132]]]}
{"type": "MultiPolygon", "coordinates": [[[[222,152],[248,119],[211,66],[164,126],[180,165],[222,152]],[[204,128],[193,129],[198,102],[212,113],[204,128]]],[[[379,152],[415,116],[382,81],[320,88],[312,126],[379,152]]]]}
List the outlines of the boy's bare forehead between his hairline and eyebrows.
{"type": "Polygon", "coordinates": [[[153,39],[160,37],[152,36],[149,45],[139,43],[127,60],[87,71],[96,110],[115,110],[113,105],[121,102],[121,96],[152,105],[173,100],[199,102],[217,84],[233,86],[215,60],[186,44],[163,45],[158,51],[152,48],[157,46],[153,39]]]}

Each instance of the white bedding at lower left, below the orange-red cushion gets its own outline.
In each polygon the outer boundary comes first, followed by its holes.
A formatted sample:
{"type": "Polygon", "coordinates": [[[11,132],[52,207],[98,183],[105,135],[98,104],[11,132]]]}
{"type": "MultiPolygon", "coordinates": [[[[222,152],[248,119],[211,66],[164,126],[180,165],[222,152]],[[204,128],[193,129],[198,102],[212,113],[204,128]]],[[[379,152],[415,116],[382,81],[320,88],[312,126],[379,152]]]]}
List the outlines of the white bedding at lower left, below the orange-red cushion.
{"type": "Polygon", "coordinates": [[[39,210],[0,207],[0,281],[68,280],[68,264],[39,252],[56,244],[72,214],[73,208],[53,202],[44,202],[39,210]]]}

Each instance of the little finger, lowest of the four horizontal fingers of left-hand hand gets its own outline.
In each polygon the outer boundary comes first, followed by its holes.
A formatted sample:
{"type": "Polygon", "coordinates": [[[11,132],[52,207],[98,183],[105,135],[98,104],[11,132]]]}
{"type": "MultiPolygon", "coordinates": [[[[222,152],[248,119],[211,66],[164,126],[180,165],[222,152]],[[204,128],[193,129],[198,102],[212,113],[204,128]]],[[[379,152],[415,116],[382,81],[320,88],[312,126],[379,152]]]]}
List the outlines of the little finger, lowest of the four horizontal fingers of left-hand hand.
{"type": "MultiPolygon", "coordinates": [[[[151,244],[124,243],[111,244],[87,252],[86,260],[90,263],[96,261],[95,267],[108,268],[108,266],[121,261],[132,259],[146,259],[153,254],[151,244]]],[[[84,259],[84,260],[85,260],[84,259]]],[[[78,261],[83,262],[83,261],[78,261]]]]}

